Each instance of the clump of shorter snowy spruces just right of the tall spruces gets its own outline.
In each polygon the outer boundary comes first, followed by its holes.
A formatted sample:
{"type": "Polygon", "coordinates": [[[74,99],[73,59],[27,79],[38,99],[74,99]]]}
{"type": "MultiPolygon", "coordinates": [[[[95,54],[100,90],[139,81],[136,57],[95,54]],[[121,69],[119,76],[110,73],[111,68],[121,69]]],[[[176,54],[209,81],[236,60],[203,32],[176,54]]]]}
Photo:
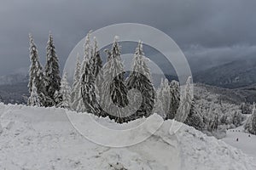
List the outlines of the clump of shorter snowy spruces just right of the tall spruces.
{"type": "Polygon", "coordinates": [[[202,130],[204,127],[203,119],[195,106],[195,99],[192,98],[190,83],[191,77],[186,82],[185,91],[181,96],[177,81],[169,82],[167,79],[162,79],[160,88],[156,93],[154,112],[162,114],[161,116],[165,117],[166,120],[175,119],[202,130]],[[181,97],[183,100],[180,99],[181,97]]]}

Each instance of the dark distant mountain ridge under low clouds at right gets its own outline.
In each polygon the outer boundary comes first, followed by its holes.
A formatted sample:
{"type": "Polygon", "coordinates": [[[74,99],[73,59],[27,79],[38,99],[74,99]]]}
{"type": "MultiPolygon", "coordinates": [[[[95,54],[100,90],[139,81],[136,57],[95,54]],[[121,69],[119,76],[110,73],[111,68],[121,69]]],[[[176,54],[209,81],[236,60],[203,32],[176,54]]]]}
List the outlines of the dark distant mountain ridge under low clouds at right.
{"type": "Polygon", "coordinates": [[[256,59],[240,59],[194,74],[195,82],[222,88],[241,88],[256,83],[256,59]]]}

